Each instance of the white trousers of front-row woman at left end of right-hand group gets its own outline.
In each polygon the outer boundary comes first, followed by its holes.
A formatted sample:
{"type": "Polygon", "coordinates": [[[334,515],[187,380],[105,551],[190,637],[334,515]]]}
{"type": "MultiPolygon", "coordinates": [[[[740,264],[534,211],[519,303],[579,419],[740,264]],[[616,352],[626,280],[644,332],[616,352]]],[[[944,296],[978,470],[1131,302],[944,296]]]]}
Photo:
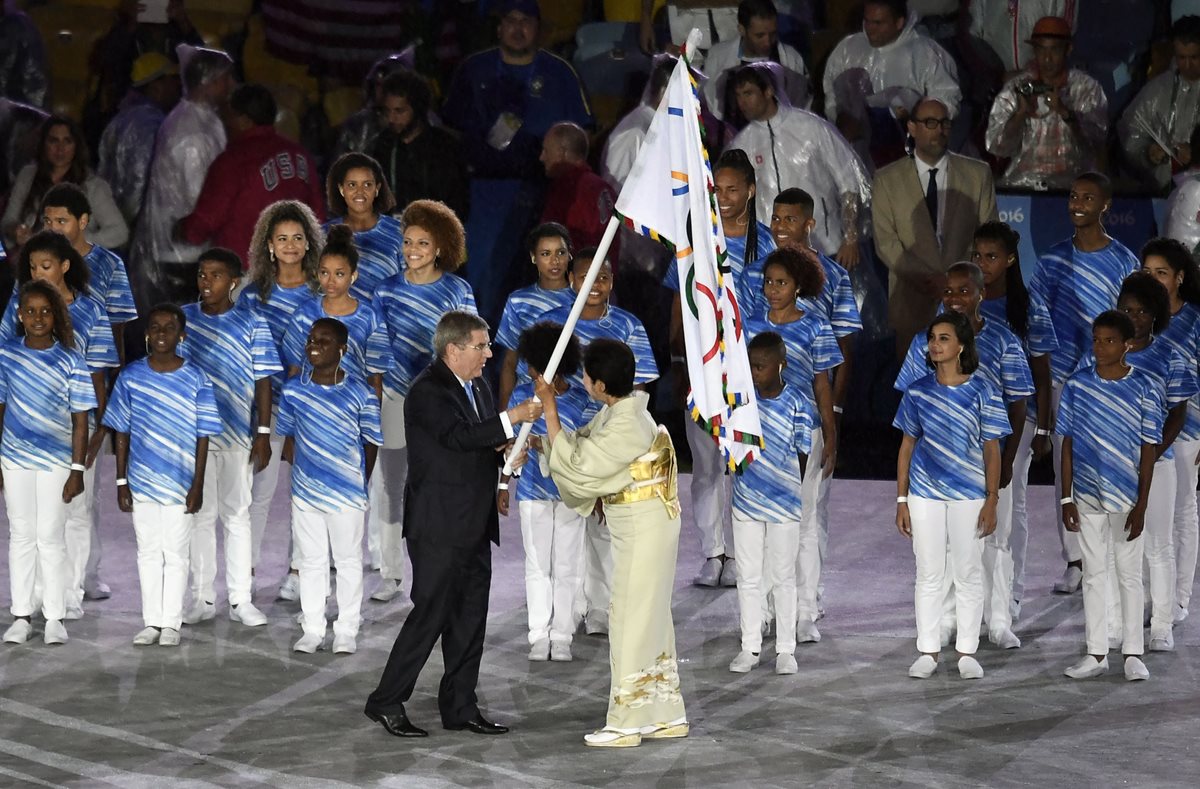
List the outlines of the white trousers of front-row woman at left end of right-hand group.
{"type": "Polygon", "coordinates": [[[983,541],[976,532],[983,504],[983,499],[936,501],[908,496],[912,553],[917,560],[913,602],[919,652],[936,655],[941,651],[940,626],[948,572],[954,576],[954,609],[959,633],[955,649],[962,655],[973,655],[979,646],[983,541]]]}

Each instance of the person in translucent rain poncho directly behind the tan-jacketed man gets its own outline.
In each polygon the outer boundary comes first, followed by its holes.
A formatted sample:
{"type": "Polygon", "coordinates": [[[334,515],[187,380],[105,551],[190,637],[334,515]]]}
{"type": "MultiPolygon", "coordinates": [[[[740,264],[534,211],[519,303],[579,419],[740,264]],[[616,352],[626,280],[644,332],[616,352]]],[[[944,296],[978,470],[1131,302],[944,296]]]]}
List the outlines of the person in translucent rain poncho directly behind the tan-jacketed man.
{"type": "Polygon", "coordinates": [[[904,153],[902,124],[922,96],[942,102],[950,118],[959,114],[954,60],[916,24],[905,0],[868,0],[863,31],[842,38],[826,64],[826,116],[868,165],[904,153]]]}

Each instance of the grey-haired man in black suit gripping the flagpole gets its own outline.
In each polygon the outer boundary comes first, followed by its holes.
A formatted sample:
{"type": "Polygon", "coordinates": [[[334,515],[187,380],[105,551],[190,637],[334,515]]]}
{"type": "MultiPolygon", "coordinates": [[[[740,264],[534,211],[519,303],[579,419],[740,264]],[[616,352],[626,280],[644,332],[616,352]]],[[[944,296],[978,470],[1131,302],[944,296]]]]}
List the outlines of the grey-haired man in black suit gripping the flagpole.
{"type": "Polygon", "coordinates": [[[492,355],[482,318],[448,312],[438,321],[433,347],[437,360],[416,377],[404,402],[404,538],[413,561],[413,610],[365,712],[389,734],[427,736],[409,722],[404,701],[440,638],[442,725],[504,734],[508,729],[484,718],[475,704],[492,583],[488,541],[500,542],[497,450],[512,438],[515,424],[541,416],[541,404],[526,400],[496,412],[480,378],[492,355]]]}

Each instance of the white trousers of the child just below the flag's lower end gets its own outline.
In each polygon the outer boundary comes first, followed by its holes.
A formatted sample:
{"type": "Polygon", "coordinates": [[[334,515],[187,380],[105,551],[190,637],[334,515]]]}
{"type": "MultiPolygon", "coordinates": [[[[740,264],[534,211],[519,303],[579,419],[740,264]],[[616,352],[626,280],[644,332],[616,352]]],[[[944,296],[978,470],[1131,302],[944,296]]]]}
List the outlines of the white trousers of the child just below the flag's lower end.
{"type": "Polygon", "coordinates": [[[733,514],[738,547],[738,619],[742,649],[762,651],[763,597],[775,597],[775,654],[796,651],[796,552],[800,523],[763,523],[733,514]]]}

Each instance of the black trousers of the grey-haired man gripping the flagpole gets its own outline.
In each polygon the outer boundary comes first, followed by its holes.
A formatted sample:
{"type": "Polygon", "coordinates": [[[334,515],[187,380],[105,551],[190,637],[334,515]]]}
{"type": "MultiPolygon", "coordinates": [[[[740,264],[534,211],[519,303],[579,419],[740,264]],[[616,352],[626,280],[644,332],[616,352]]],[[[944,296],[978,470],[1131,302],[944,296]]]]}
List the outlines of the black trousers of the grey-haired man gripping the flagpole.
{"type": "Polygon", "coordinates": [[[463,723],[479,712],[475,685],[487,628],[492,546],[487,537],[467,548],[407,542],[413,561],[413,610],[366,709],[385,715],[400,711],[440,638],[445,674],[438,687],[438,711],[443,725],[463,723]]]}

